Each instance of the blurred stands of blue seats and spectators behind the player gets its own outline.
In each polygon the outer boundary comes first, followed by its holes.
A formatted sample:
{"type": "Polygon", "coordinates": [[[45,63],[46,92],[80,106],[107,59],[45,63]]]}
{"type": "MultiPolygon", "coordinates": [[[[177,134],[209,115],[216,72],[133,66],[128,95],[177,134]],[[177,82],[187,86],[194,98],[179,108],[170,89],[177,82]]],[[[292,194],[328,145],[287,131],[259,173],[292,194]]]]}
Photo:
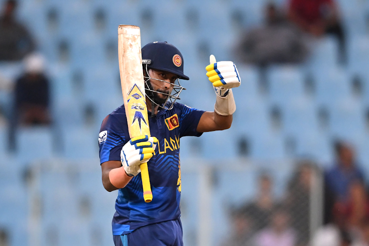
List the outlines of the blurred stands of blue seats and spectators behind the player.
{"type": "Polygon", "coordinates": [[[0,246],[113,246],[99,127],[123,103],[117,28],[184,56],[182,103],[232,127],[182,138],[184,244],[368,246],[368,0],[1,0],[0,246]]]}

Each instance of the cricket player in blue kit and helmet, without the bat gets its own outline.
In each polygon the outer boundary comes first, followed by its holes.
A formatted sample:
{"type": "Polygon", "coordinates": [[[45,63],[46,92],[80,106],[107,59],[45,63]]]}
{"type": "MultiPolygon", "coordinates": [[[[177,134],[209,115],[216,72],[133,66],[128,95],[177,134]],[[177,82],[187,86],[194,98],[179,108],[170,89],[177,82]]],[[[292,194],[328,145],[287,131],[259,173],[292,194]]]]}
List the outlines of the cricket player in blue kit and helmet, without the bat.
{"type": "MultiPolygon", "coordinates": [[[[215,89],[215,110],[205,112],[175,102],[184,88],[181,52],[167,42],[142,48],[146,103],[151,137],[129,138],[124,105],[109,114],[99,133],[102,183],[119,189],[113,217],[115,246],[182,246],[180,220],[180,138],[231,126],[236,110],[232,89],[241,84],[233,62],[206,67],[215,89]],[[148,162],[153,200],[146,203],[140,164],[148,162]]],[[[136,119],[144,124],[143,119],[136,119]]]]}

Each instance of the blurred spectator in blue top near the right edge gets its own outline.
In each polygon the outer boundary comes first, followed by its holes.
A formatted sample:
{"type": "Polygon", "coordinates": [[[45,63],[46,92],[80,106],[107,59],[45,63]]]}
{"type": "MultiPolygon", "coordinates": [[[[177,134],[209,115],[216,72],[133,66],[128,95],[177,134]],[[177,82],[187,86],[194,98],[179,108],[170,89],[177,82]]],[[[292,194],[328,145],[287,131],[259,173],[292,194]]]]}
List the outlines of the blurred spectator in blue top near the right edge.
{"type": "Polygon", "coordinates": [[[337,160],[325,173],[325,223],[332,221],[333,206],[336,202],[349,200],[349,187],[355,181],[364,182],[364,173],[355,162],[354,152],[344,142],[335,143],[337,160]]]}

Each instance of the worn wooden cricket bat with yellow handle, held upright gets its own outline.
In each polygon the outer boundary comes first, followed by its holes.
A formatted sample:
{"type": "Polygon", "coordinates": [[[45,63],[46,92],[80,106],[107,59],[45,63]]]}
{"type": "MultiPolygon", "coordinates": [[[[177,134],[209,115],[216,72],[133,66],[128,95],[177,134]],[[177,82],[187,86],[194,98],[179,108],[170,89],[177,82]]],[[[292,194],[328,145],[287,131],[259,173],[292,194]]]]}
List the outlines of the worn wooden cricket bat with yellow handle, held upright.
{"type": "MultiPolygon", "coordinates": [[[[118,27],[119,70],[129,137],[148,135],[149,118],[146,106],[144,74],[142,70],[140,28],[130,25],[118,27]]],[[[140,165],[145,202],[153,200],[147,163],[140,165]]]]}

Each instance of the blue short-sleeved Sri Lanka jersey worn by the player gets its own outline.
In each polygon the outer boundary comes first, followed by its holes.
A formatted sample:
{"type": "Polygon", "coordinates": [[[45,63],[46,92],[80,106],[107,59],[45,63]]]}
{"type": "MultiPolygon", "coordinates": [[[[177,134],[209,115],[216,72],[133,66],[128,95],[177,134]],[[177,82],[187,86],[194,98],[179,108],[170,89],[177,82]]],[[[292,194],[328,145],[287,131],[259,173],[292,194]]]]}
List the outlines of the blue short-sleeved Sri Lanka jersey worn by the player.
{"type": "MultiPolygon", "coordinates": [[[[145,225],[180,217],[181,167],[180,138],[200,136],[196,131],[204,111],[175,103],[171,110],[161,110],[153,118],[149,112],[150,133],[159,141],[154,156],[148,162],[153,201],[143,199],[141,174],[119,189],[113,235],[123,235],[145,225]]],[[[122,105],[108,115],[99,134],[100,164],[121,160],[121,150],[130,140],[125,109],[122,105]]]]}

